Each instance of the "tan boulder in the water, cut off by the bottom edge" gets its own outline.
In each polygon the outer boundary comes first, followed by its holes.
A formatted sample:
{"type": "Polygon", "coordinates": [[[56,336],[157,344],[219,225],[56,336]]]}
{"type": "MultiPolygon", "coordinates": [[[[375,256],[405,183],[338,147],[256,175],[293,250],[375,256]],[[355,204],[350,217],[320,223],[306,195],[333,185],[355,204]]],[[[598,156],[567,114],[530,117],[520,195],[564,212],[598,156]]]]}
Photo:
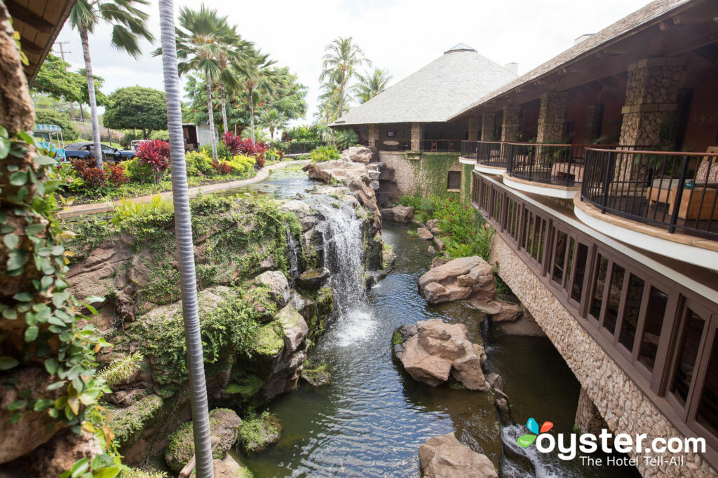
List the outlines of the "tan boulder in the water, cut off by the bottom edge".
{"type": "Polygon", "coordinates": [[[419,445],[419,467],[425,478],[498,478],[491,460],[461,444],[453,433],[419,445]]]}

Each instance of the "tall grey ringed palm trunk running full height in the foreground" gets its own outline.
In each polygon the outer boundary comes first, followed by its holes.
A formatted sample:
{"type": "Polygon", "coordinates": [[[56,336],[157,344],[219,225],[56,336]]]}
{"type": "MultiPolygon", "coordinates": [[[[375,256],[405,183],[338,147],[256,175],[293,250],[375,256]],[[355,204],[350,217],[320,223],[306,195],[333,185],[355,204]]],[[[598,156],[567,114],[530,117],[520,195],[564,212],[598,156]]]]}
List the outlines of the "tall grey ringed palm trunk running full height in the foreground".
{"type": "MultiPolygon", "coordinates": [[[[162,40],[162,70],[167,99],[167,130],[169,130],[169,150],[172,164],[174,230],[177,234],[182,316],[185,321],[187,365],[190,370],[190,401],[192,403],[192,429],[195,435],[197,477],[213,478],[210,417],[202,355],[200,317],[197,309],[195,249],[192,244],[190,199],[187,194],[187,165],[185,163],[185,141],[182,136],[182,107],[180,105],[182,94],[180,92],[180,75],[177,73],[177,45],[174,37],[172,0],[159,0],[159,19],[162,40]]],[[[210,106],[210,123],[211,114],[210,106]]]]}

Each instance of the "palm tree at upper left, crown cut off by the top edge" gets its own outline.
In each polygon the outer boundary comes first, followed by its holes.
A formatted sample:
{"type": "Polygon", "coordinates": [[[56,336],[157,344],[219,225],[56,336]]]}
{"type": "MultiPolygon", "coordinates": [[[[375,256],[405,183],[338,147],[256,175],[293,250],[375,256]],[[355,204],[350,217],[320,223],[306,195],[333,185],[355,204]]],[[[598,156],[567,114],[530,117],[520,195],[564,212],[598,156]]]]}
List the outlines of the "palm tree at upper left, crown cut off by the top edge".
{"type": "Polygon", "coordinates": [[[70,12],[70,24],[80,32],[83,44],[83,57],[85,57],[85,76],[88,80],[88,100],[92,114],[93,150],[95,164],[103,168],[102,148],[100,145],[100,121],[97,113],[97,98],[95,97],[95,81],[92,73],[92,59],[90,58],[90,42],[88,35],[95,25],[104,21],[112,25],[113,46],[125,50],[134,59],[139,58],[141,51],[137,44],[139,37],[154,42],[154,36],[146,28],[147,14],[136,8],[136,4],[148,5],[147,0],[78,0],[70,12]]]}

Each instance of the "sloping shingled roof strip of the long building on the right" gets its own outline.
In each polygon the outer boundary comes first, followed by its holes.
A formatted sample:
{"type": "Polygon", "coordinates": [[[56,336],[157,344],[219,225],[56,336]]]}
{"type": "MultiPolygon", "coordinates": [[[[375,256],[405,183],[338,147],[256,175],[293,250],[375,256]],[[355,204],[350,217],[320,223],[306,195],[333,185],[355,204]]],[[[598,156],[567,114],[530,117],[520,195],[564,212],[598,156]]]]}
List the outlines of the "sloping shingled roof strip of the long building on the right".
{"type": "Polygon", "coordinates": [[[536,80],[538,77],[547,75],[561,67],[565,67],[567,64],[577,61],[581,57],[592,54],[593,52],[606,47],[621,37],[628,36],[633,32],[648,27],[650,24],[654,24],[662,16],[665,16],[669,12],[678,9],[681,6],[688,4],[694,0],[656,0],[650,4],[644,6],[641,9],[634,11],[632,14],[625,16],[623,19],[616,21],[614,24],[602,29],[597,34],[593,34],[582,42],[575,44],[573,47],[562,52],[558,56],[549,59],[548,62],[541,64],[534,68],[525,75],[516,78],[511,82],[507,82],[504,85],[498,87],[496,90],[490,92],[488,95],[484,95],[480,100],[473,102],[471,105],[463,108],[459,113],[453,115],[449,119],[457,118],[467,111],[473,108],[483,105],[485,102],[493,100],[504,93],[510,92],[516,87],[524,85],[528,82],[536,80]]]}

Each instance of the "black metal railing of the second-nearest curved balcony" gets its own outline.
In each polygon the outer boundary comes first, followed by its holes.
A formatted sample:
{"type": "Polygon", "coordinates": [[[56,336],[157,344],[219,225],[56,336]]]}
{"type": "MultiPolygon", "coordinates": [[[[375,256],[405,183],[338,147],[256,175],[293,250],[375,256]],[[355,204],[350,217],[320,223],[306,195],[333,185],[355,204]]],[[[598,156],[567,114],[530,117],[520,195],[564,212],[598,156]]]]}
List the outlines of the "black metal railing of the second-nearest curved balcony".
{"type": "Polygon", "coordinates": [[[502,156],[508,161],[506,171],[514,178],[574,186],[581,182],[583,171],[571,150],[569,144],[508,143],[502,156]]]}

